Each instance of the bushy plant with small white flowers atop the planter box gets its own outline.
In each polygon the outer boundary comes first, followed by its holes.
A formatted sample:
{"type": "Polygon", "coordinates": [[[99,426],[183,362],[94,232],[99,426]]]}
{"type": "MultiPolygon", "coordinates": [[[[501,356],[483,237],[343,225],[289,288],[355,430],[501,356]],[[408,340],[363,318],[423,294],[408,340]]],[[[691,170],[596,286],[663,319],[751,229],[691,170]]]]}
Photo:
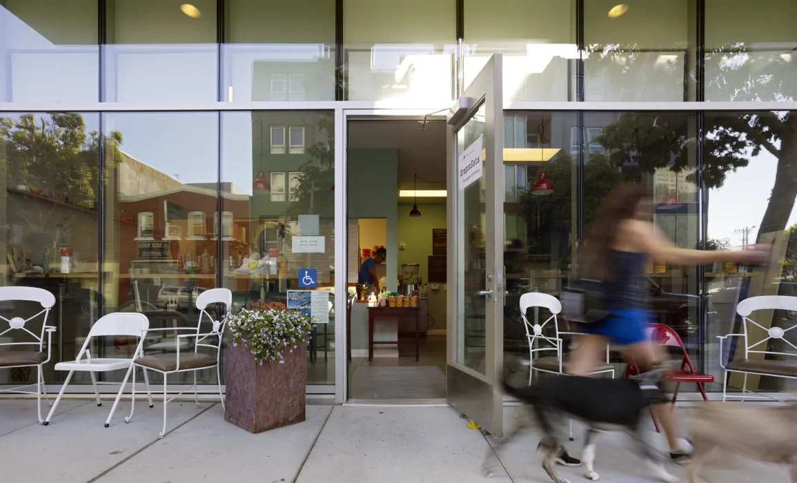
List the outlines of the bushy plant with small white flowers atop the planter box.
{"type": "Polygon", "coordinates": [[[285,304],[265,304],[261,300],[227,317],[230,342],[252,352],[255,363],[285,363],[285,352],[310,342],[316,324],[311,316],[285,310],[285,304]]]}

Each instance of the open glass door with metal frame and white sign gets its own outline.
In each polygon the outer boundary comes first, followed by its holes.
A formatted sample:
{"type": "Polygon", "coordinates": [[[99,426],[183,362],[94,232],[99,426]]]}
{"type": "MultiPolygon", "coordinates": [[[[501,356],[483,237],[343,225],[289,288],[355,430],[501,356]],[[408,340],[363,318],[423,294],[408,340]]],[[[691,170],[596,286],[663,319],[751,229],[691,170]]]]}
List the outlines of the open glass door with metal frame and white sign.
{"type": "Polygon", "coordinates": [[[448,399],[501,436],[503,395],[503,99],[490,57],[449,114],[448,399]]]}

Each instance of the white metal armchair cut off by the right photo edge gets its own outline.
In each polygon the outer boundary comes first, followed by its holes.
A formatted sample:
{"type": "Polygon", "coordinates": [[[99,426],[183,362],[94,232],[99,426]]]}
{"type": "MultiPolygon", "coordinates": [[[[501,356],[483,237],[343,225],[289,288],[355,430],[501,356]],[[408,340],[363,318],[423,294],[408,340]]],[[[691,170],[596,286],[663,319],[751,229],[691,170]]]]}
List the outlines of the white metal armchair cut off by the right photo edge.
{"type": "MultiPolygon", "coordinates": [[[[728,334],[727,336],[717,336],[720,340],[720,366],[724,370],[724,377],[722,383],[722,400],[727,399],[768,399],[773,400],[766,395],[753,395],[748,396],[747,383],[748,375],[769,375],[772,377],[781,377],[785,379],[797,379],[797,359],[795,353],[780,352],[776,350],[768,350],[768,344],[771,340],[780,340],[783,344],[797,351],[797,346],[787,339],[787,335],[792,331],[797,324],[791,324],[791,327],[781,328],[772,326],[765,328],[763,325],[757,323],[750,318],[752,312],[758,310],[787,310],[797,312],[797,297],[771,295],[771,296],[752,296],[748,299],[742,300],[736,306],[736,312],[742,317],[741,334],[728,334]],[[757,333],[757,334],[756,334],[757,333]],[[740,343],[744,344],[744,357],[736,357],[728,363],[723,363],[723,343],[730,337],[739,337],[740,343]],[[751,358],[751,355],[754,358],[751,358]],[[779,357],[789,357],[791,359],[767,359],[768,355],[779,357]],[[741,395],[728,394],[728,373],[737,372],[744,374],[744,383],[742,384],[741,395]]],[[[797,337],[797,331],[794,333],[797,337]]],[[[793,340],[793,339],[792,339],[793,340]]],[[[756,394],[756,393],[753,393],[756,394]]]]}

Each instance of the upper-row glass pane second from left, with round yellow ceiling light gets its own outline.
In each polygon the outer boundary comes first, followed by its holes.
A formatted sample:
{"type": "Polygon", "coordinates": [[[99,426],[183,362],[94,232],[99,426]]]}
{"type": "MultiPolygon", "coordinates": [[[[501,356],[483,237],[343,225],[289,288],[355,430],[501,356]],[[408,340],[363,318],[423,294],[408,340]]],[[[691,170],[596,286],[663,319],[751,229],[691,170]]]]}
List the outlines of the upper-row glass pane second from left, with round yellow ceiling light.
{"type": "Polygon", "coordinates": [[[108,0],[103,100],[218,99],[215,0],[108,0]]]}

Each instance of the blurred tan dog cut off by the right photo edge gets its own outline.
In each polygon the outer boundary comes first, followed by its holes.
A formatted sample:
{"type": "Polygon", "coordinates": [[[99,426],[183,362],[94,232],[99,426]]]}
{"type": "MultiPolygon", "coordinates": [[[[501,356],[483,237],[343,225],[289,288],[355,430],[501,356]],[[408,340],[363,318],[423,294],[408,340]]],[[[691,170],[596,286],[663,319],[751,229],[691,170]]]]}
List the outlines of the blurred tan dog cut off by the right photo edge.
{"type": "Polygon", "coordinates": [[[756,461],[791,465],[797,483],[797,406],[751,406],[743,402],[706,402],[695,414],[694,453],[687,469],[689,483],[715,448],[756,461]]]}

